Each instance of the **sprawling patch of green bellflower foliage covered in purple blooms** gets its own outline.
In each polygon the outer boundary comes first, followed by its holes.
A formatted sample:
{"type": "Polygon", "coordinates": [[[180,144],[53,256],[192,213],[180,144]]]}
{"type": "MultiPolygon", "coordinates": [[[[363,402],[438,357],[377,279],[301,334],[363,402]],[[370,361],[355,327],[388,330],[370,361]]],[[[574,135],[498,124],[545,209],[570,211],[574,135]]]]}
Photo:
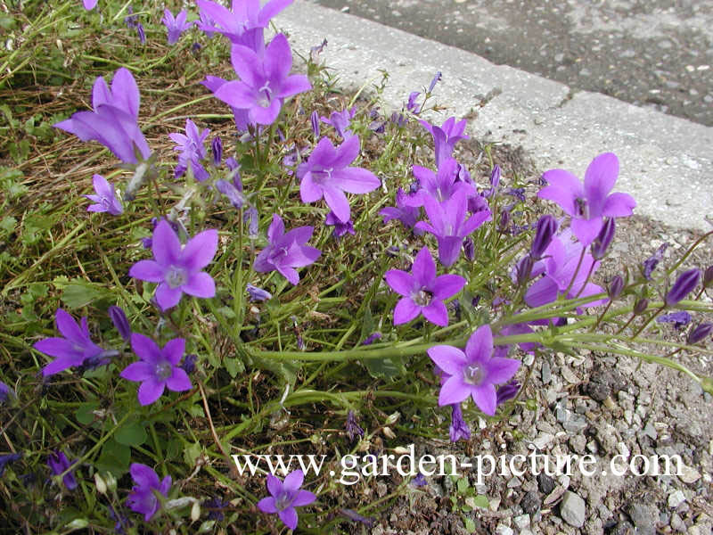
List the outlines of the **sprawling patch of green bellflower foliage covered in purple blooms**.
{"type": "Polygon", "coordinates": [[[188,23],[113,2],[2,15],[12,530],[368,524],[423,476],[368,498],[337,481],[340,457],[526,410],[526,352],[638,357],[713,391],[678,358],[711,353],[713,269],[689,250],[597,279],[635,207],[611,193],[616,155],[583,181],[503,173],[488,147],[469,169],[465,121],[431,105],[447,80],[394,113],[380,86],[342,95],[319,44],[296,61],[267,30],[290,3],[199,0],[188,23]],[[649,336],[683,312],[684,342],[649,336]],[[278,479],[242,473],[249,452],[327,460],[278,479]]]}

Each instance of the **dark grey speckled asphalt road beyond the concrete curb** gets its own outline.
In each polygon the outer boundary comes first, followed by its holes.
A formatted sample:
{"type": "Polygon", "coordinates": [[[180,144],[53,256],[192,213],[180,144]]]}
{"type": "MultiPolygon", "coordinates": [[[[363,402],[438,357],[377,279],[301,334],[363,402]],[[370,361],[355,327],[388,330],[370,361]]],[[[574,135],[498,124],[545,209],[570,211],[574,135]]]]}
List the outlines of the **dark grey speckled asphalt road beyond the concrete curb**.
{"type": "Polygon", "coordinates": [[[312,0],[713,126],[713,0],[312,0]]]}

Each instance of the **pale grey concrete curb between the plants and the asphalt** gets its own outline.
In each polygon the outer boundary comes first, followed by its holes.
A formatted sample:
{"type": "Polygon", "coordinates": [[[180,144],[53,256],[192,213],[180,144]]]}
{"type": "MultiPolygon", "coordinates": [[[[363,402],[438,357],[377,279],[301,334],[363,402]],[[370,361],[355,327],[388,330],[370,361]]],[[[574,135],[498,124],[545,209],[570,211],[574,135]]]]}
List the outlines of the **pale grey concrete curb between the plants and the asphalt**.
{"type": "Polygon", "coordinates": [[[619,156],[616,191],[631,193],[635,213],[667,225],[709,229],[713,215],[713,128],[609,96],[570,87],[476,54],[441,45],[373,21],[335,12],[307,0],[275,20],[293,48],[307,53],[326,38],[326,65],[342,86],[359,87],[389,72],[385,103],[400,109],[411,91],[428,86],[437,70],[443,81],[436,101],[461,118],[472,111],[468,132],[493,142],[522,145],[542,169],[584,176],[600,152],[619,156]]]}

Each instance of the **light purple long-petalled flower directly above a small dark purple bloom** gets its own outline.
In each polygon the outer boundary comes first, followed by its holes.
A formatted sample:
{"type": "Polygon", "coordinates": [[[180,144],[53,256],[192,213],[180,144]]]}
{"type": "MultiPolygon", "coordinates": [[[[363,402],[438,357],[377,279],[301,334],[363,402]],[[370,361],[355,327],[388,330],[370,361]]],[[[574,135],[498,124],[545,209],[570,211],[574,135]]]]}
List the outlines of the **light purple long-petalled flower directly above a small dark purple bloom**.
{"type": "Polygon", "coordinates": [[[358,155],[359,136],[349,137],[337,148],[329,138],[320,139],[309,159],[297,168],[302,202],[316,202],[324,197],[334,215],[347,222],[350,210],[344,192],[368,193],[381,185],[371,171],[347,167],[358,155]]]}

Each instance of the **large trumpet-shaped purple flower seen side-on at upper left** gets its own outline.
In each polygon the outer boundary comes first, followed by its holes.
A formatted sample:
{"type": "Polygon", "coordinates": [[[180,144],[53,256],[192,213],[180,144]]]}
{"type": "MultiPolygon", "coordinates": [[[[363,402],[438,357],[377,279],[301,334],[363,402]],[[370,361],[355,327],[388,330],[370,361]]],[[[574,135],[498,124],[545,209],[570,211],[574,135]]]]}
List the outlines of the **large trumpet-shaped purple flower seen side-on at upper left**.
{"type": "Polygon", "coordinates": [[[78,111],[53,127],[70,132],[82,141],[98,141],[125,163],[138,163],[137,156],[143,160],[151,156],[151,149],[136,124],[139,88],[129,70],[122,67],[116,71],[111,90],[104,78],[96,78],[92,105],[94,111],[78,111]]]}

